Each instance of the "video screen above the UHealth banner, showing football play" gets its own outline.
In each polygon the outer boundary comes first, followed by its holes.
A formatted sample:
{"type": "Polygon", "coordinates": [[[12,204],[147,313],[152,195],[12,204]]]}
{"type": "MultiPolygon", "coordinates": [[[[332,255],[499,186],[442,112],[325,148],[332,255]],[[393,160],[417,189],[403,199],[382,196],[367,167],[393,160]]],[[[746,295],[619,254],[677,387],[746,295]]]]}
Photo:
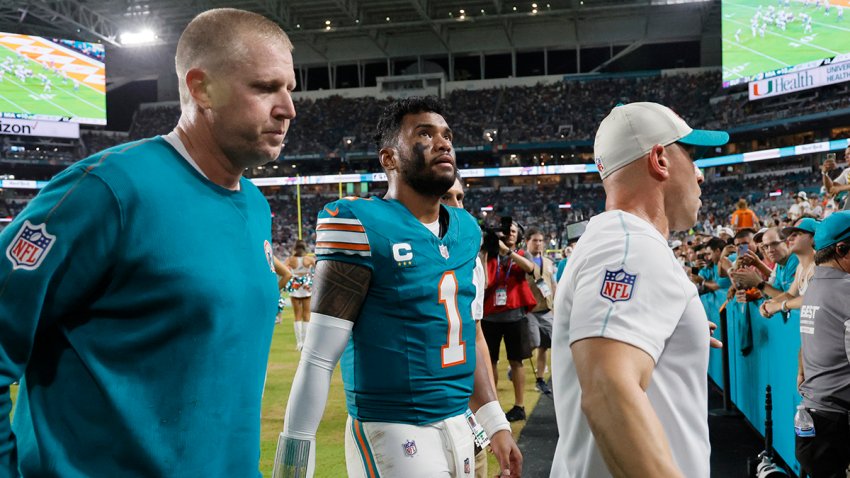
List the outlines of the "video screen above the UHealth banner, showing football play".
{"type": "Polygon", "coordinates": [[[722,0],[723,86],[850,54],[847,0],[722,0]]]}

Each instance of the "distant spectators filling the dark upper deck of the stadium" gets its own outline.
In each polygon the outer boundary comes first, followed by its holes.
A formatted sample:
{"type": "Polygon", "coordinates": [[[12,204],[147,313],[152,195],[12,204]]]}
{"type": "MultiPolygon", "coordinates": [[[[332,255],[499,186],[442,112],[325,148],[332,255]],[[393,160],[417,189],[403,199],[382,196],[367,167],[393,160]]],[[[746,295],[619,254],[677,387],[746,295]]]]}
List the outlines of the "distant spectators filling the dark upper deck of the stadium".
{"type": "MultiPolygon", "coordinates": [[[[746,94],[718,91],[720,73],[582,79],[481,90],[455,90],[445,98],[456,146],[497,143],[591,141],[599,121],[618,103],[655,101],[670,106],[695,127],[729,129],[744,124],[831,111],[850,106],[847,85],[749,102],[746,94]],[[711,99],[717,97],[712,103],[711,99]]],[[[298,117],[286,138],[284,156],[344,155],[374,150],[372,133],[387,99],[331,96],[296,102],[298,117]]],[[[132,139],[164,134],[179,117],[179,106],[140,109],[132,139]]]]}

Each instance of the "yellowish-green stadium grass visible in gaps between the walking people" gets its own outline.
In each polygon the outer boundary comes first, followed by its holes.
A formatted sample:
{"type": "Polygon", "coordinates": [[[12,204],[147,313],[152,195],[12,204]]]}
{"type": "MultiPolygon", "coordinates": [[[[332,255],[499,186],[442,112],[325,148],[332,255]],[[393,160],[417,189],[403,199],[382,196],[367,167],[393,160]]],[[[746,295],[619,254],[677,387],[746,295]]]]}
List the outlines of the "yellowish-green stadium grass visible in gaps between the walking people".
{"type": "MultiPolygon", "coordinates": [[[[283,323],[275,326],[272,348],[269,354],[268,376],[266,389],[263,393],[262,426],[260,436],[260,471],[263,476],[271,476],[274,465],[274,453],[277,448],[277,436],[283,429],[283,414],[286,411],[286,400],[289,389],[295,377],[300,354],[295,350],[295,334],[292,329],[292,309],[284,311],[283,323]]],[[[534,387],[534,374],[526,363],[525,410],[530,415],[534,410],[540,394],[534,387]]],[[[505,358],[505,348],[502,347],[502,360],[499,361],[499,401],[502,408],[508,409],[513,405],[513,388],[505,379],[508,361],[505,358]]],[[[547,374],[548,377],[548,374],[547,374]]],[[[12,386],[12,401],[17,395],[17,387],[12,386]]],[[[549,400],[548,398],[546,400],[549,400]]],[[[14,408],[13,408],[14,414],[14,408]]],[[[334,370],[331,388],[328,394],[328,404],[322,417],[322,423],[316,434],[316,476],[346,476],[345,470],[345,420],[348,413],[345,409],[345,395],[342,388],[342,375],[339,366],[334,370]]],[[[511,423],[514,437],[525,426],[524,421],[511,423]]],[[[490,471],[496,469],[496,459],[489,455],[490,471]]],[[[490,473],[494,476],[496,473],[490,473]]]]}

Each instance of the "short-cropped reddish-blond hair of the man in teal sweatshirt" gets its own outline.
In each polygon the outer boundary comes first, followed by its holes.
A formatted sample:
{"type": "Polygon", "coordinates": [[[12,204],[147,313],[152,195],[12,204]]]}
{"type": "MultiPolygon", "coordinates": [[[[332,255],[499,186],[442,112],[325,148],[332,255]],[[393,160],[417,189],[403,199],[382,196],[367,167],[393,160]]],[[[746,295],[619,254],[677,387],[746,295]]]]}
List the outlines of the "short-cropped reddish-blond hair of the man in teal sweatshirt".
{"type": "Polygon", "coordinates": [[[251,54],[245,40],[277,43],[292,50],[292,42],[274,22],[262,15],[216,8],[207,10],[189,22],[177,42],[174,59],[180,88],[180,104],[189,104],[191,96],[186,87],[186,73],[193,68],[207,72],[227,72],[238,68],[240,60],[251,54]]]}

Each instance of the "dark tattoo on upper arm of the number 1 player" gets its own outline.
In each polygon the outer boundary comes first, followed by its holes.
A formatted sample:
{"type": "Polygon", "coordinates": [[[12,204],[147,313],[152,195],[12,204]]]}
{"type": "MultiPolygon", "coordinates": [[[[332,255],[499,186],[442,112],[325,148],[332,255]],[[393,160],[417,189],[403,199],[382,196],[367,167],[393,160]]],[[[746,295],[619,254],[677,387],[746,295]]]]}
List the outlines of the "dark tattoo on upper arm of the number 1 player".
{"type": "Polygon", "coordinates": [[[354,322],[369,290],[372,271],[339,261],[321,261],[313,276],[312,312],[354,322]]]}

